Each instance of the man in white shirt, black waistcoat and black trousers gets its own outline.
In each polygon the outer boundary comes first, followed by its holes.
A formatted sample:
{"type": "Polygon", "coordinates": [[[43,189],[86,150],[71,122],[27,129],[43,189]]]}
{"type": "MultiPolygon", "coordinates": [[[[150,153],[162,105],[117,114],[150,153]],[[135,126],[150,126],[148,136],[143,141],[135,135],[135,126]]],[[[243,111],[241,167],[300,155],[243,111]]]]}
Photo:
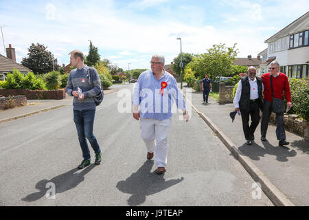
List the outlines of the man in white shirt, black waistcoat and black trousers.
{"type": "Polygon", "coordinates": [[[251,145],[254,140],[254,132],[260,122],[260,109],[263,109],[264,85],[261,78],[255,75],[255,67],[249,67],[247,76],[242,77],[238,83],[233,100],[235,111],[240,111],[242,116],[242,129],[248,145],[251,145]],[[249,115],[251,115],[250,126],[249,115]]]}

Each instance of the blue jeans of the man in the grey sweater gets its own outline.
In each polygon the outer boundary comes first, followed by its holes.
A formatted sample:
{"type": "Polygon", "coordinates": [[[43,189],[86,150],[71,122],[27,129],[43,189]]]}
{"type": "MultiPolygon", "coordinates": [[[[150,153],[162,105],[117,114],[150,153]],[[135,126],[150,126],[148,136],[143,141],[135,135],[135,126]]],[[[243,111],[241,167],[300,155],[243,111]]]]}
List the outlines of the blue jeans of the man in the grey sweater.
{"type": "Polygon", "coordinates": [[[93,122],[95,118],[94,110],[73,110],[74,122],[78,131],[78,140],[82,148],[82,157],[84,159],[91,159],[89,147],[86,138],[89,140],[91,147],[95,153],[100,153],[100,146],[95,135],[93,135],[93,122]]]}

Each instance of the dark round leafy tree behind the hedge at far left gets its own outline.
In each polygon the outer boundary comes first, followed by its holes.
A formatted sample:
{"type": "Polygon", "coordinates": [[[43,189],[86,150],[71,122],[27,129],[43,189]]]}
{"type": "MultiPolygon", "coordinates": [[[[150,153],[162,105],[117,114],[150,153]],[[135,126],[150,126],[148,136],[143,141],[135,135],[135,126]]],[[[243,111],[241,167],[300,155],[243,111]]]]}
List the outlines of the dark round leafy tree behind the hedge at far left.
{"type": "Polygon", "coordinates": [[[47,51],[47,47],[39,43],[32,43],[28,48],[28,57],[23,58],[21,64],[29,69],[32,69],[34,74],[45,74],[52,72],[55,68],[59,69],[58,61],[54,58],[52,52],[47,51]],[[54,60],[54,66],[53,66],[54,60]]]}

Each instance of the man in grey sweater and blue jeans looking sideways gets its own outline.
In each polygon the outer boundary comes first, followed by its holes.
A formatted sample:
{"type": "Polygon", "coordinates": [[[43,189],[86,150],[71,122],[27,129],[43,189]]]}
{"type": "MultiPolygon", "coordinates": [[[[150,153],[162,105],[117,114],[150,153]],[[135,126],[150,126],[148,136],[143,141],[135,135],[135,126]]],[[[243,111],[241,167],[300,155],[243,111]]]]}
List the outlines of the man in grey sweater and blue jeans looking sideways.
{"type": "Polygon", "coordinates": [[[73,50],[70,62],[73,69],[67,80],[66,92],[73,99],[73,115],[78,140],[82,148],[82,163],[79,169],[89,166],[91,155],[86,138],[89,140],[95,152],[95,165],[101,162],[101,150],[95,135],[93,135],[93,122],[95,118],[95,97],[100,94],[101,80],[96,69],[84,65],[84,54],[79,50],[73,50]]]}

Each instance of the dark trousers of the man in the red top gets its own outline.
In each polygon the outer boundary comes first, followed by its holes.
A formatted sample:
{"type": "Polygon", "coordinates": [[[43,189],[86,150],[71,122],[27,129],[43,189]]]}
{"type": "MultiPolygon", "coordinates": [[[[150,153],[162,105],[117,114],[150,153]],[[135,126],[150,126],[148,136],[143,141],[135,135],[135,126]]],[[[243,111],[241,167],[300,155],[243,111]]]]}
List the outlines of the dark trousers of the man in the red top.
{"type": "MultiPolygon", "coordinates": [[[[264,109],[261,122],[261,135],[263,137],[266,137],[268,121],[269,117],[271,116],[272,109],[273,109],[273,102],[268,102],[264,100],[264,109]]],[[[277,140],[286,140],[286,130],[284,129],[284,114],[276,113],[276,120],[277,120],[277,129],[276,129],[277,140]]]]}

